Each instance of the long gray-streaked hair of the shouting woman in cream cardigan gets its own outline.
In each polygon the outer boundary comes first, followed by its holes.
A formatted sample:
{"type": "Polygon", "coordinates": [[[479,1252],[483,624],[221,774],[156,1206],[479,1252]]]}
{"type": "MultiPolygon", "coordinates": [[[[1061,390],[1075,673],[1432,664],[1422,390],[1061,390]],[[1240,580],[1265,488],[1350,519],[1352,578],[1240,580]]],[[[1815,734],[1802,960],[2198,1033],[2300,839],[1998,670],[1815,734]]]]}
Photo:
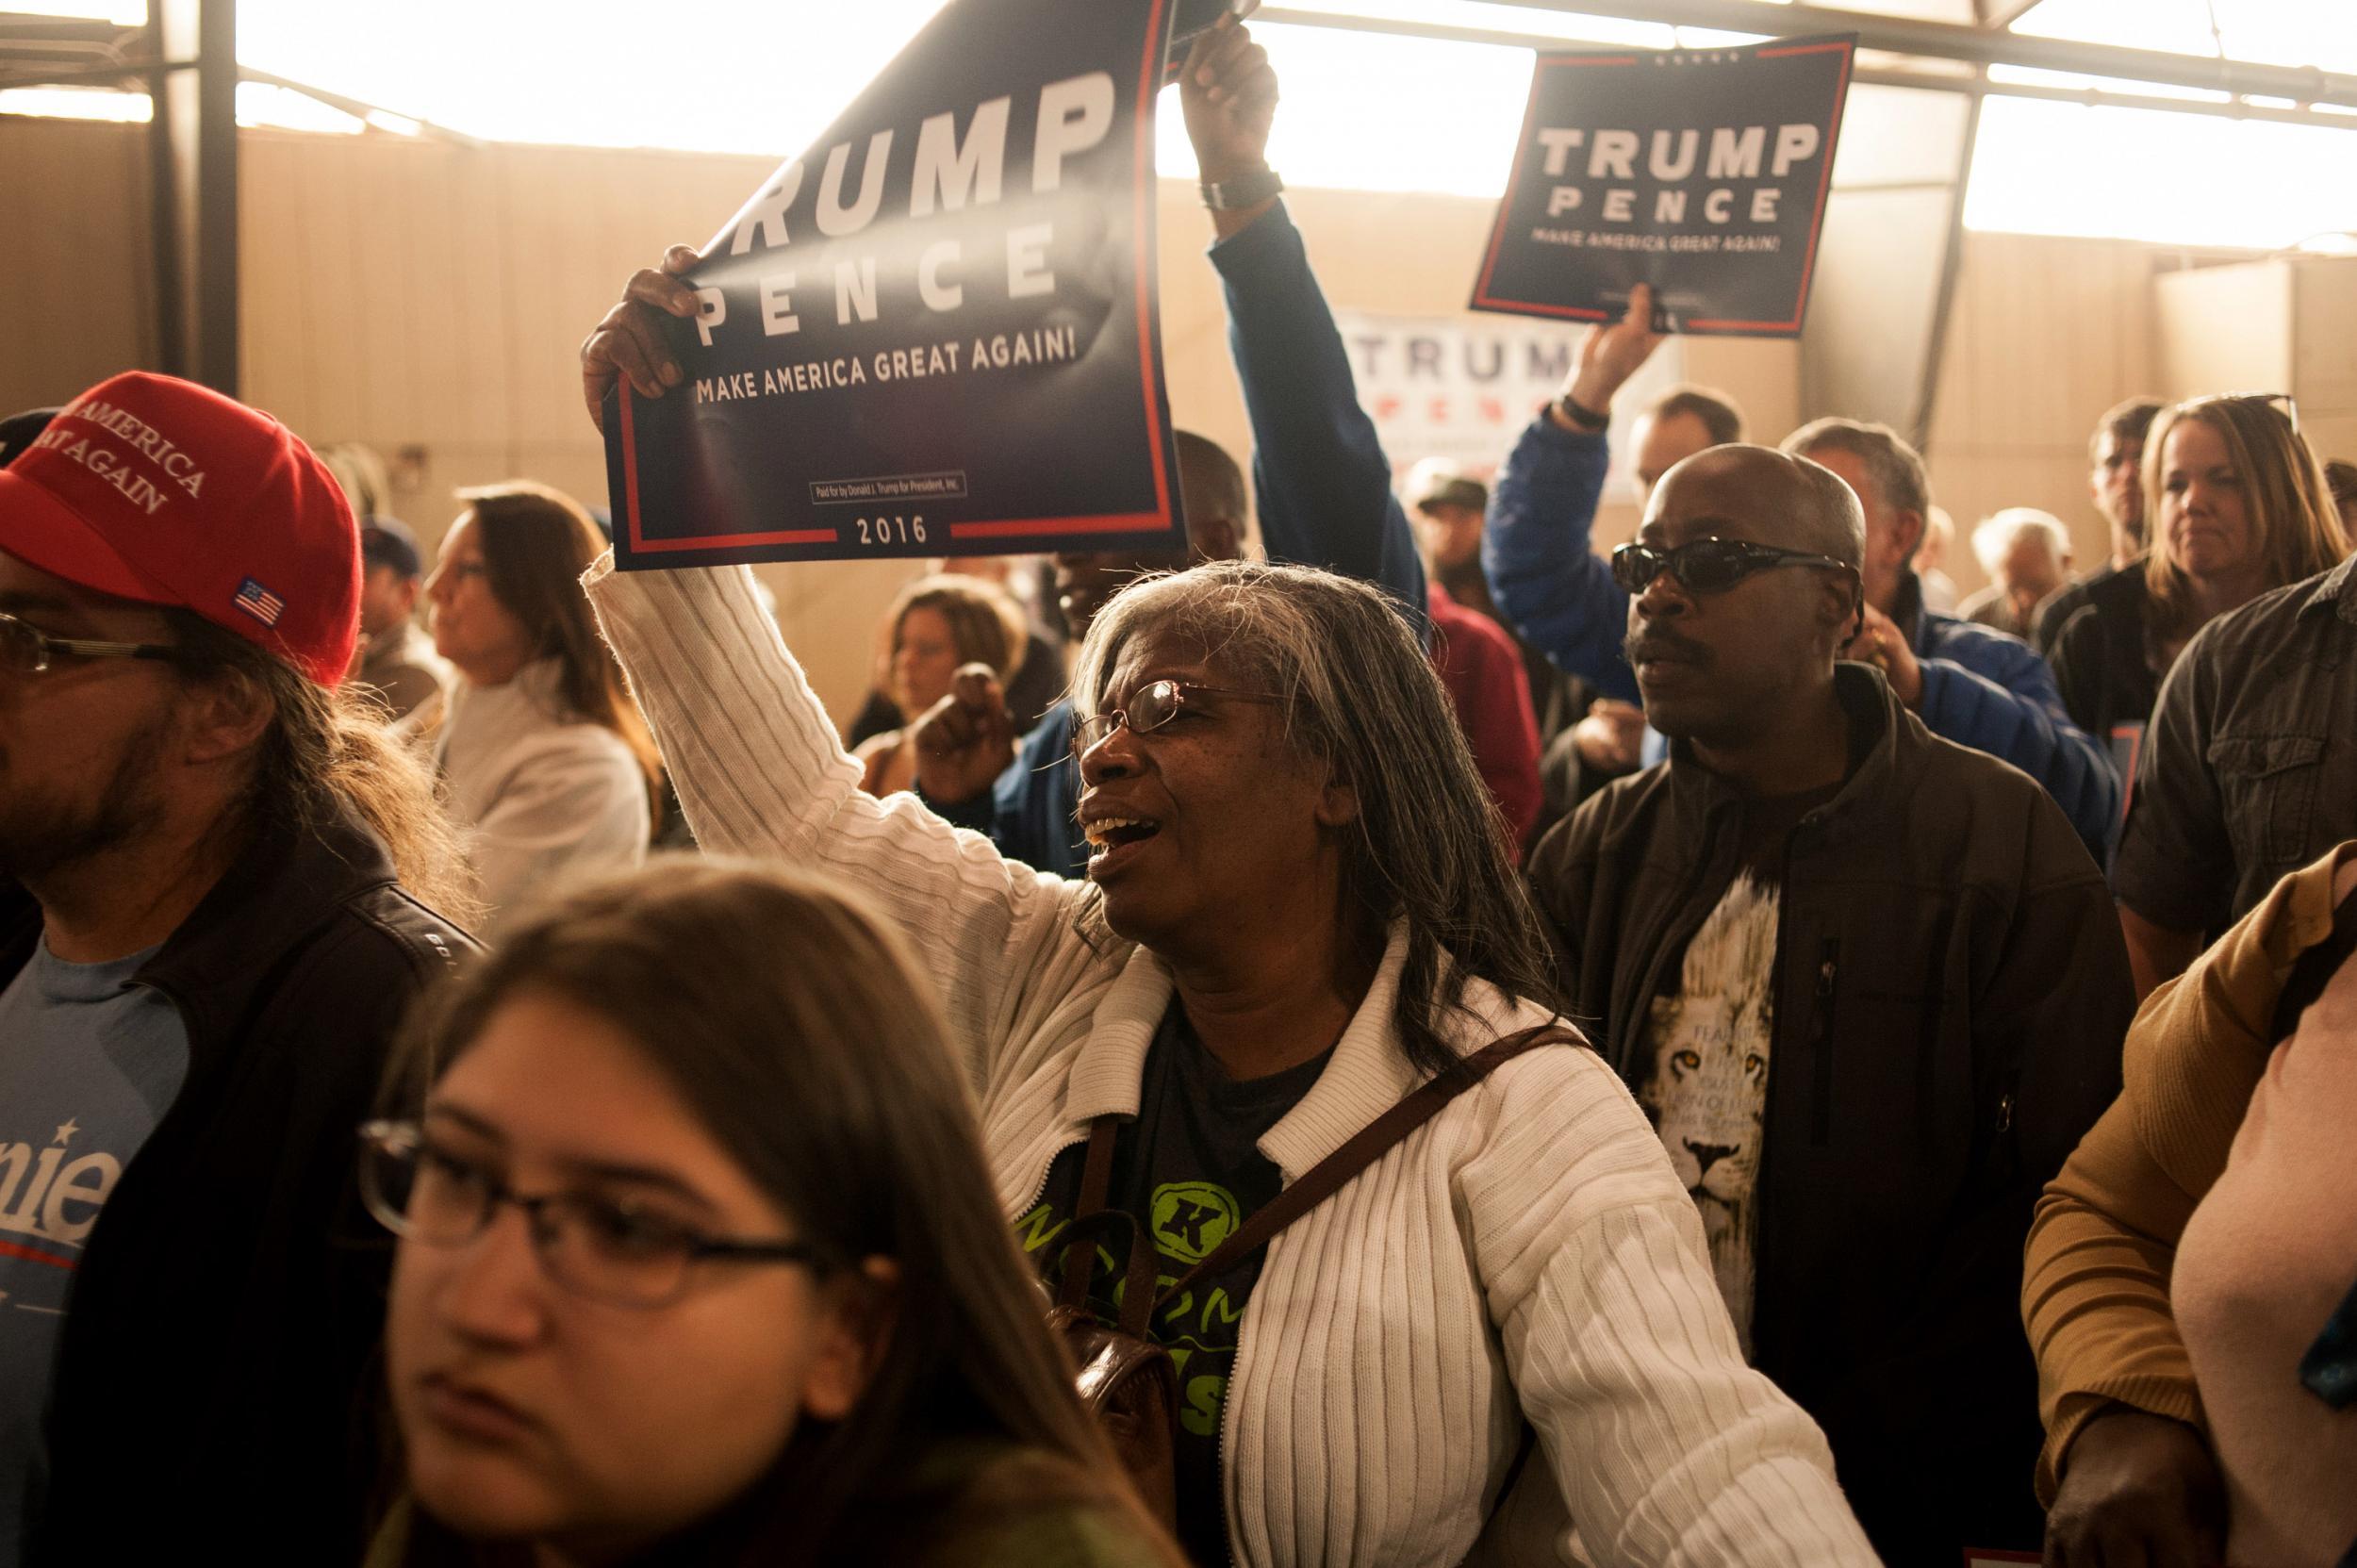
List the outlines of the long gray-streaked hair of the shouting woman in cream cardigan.
{"type": "Polygon", "coordinates": [[[1457,1070],[1440,1014],[1471,1016],[1483,979],[1553,1004],[1546,936],[1513,865],[1447,691],[1400,606],[1353,578],[1306,566],[1214,561],[1143,578],[1096,620],[1072,705],[1101,712],[1122,648],[1146,634],[1200,646],[1230,679],[1285,698],[1285,736],[1358,795],[1343,846],[1343,920],[1374,960],[1393,920],[1407,964],[1393,1021],[1407,1061],[1457,1070]]]}

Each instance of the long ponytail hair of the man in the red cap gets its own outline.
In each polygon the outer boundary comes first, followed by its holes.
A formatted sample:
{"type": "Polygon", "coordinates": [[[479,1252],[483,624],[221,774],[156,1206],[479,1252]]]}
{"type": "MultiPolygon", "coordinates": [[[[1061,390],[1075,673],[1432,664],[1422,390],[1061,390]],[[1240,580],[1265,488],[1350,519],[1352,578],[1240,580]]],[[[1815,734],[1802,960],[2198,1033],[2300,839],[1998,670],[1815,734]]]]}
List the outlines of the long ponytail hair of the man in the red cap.
{"type": "Polygon", "coordinates": [[[196,611],[167,608],[165,620],[181,651],[181,681],[245,681],[273,707],[245,790],[255,825],[309,835],[351,811],[384,844],[403,889],[445,920],[474,924],[483,905],[457,830],[434,797],[434,771],[384,731],[375,700],[349,684],[330,691],[196,611]]]}

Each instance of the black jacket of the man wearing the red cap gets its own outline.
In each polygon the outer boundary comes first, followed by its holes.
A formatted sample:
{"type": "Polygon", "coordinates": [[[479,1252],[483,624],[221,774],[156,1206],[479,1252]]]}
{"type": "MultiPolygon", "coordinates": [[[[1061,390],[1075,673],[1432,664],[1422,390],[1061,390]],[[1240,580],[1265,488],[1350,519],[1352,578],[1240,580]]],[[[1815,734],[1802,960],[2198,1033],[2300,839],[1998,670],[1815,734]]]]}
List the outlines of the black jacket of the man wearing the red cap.
{"type": "MultiPolygon", "coordinates": [[[[38,938],[0,882],[0,983],[38,938]]],[[[471,950],[344,821],[264,830],[139,971],[189,1078],[85,1240],[26,1561],[358,1561],[391,1245],[354,1129],[410,997],[471,950]]]]}

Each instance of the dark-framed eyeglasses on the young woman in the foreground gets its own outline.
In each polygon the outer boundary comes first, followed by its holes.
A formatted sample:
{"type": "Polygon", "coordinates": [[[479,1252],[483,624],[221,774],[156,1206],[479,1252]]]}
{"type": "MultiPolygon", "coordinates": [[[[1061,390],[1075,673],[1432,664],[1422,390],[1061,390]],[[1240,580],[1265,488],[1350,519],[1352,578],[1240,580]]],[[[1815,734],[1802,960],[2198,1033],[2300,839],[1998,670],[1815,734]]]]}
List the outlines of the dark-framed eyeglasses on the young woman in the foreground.
{"type": "Polygon", "coordinates": [[[825,1261],[811,1243],[705,1236],[629,1198],[526,1198],[478,1160],[434,1144],[417,1122],[361,1127],[361,1200],[387,1231],[429,1247],[464,1247],[502,1207],[519,1207],[549,1278],[608,1306],[669,1306],[705,1261],[811,1269],[825,1261]]]}

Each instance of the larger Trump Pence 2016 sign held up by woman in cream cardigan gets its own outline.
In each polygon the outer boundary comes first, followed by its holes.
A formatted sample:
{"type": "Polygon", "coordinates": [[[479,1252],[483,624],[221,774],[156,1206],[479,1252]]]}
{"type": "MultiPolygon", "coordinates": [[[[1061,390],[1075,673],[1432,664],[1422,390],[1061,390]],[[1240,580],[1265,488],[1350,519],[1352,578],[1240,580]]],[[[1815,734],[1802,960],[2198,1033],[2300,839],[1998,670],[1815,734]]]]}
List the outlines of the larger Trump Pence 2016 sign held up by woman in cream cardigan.
{"type": "Polygon", "coordinates": [[[1183,545],[1155,311],[1171,0],[952,0],[606,406],[629,568],[1183,545]]]}

